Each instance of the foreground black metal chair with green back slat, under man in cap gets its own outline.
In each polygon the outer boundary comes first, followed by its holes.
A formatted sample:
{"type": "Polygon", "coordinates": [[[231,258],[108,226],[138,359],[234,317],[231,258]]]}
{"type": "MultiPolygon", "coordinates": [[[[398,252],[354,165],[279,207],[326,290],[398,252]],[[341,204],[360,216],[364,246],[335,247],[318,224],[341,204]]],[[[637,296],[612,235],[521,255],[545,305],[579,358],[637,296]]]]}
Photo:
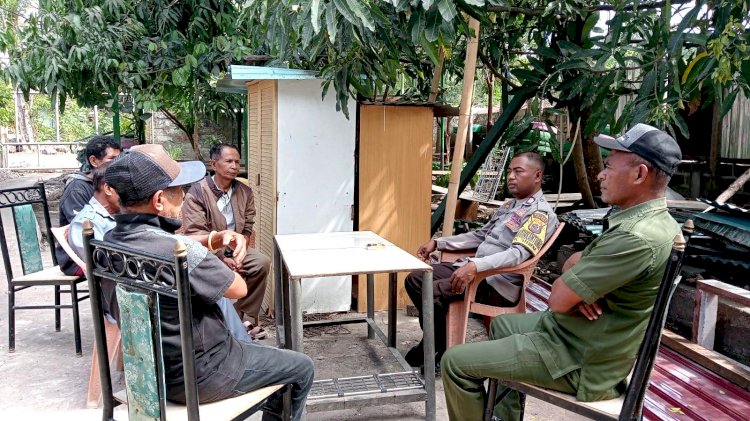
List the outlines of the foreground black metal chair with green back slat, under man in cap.
{"type": "MultiPolygon", "coordinates": [[[[113,419],[114,407],[126,404],[130,419],[242,420],[266,402],[288,390],[270,385],[250,393],[199,405],[193,351],[192,294],[188,279],[187,250],[178,241],[173,259],[93,239],[90,221],[84,223],[86,277],[91,290],[99,377],[105,420],[113,419]],[[120,327],[125,393],[115,395],[110,375],[108,344],[101,302],[102,279],[114,281],[120,307],[120,327]],[[185,405],[168,403],[162,358],[160,299],[177,300],[185,384],[185,405]]],[[[125,415],[125,414],[123,414],[125,415]]]]}

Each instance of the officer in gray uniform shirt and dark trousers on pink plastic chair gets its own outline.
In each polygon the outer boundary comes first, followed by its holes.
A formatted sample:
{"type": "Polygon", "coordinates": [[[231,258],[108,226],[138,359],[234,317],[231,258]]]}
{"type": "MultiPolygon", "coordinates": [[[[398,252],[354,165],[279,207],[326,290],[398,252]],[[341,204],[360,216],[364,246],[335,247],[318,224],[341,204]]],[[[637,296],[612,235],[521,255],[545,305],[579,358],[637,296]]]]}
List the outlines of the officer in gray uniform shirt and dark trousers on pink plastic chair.
{"type": "MultiPolygon", "coordinates": [[[[463,298],[466,285],[477,272],[516,266],[539,253],[557,229],[557,215],[542,194],[544,161],[532,152],[513,157],[508,166],[507,184],[513,199],[507,200],[482,228],[450,237],[440,237],[422,245],[417,254],[426,259],[437,250],[477,249],[475,257],[455,263],[433,264],[435,311],[435,352],[445,352],[445,315],[451,301],[463,298]]],[[[406,292],[419,312],[422,326],[422,274],[414,272],[406,278],[406,292]]],[[[496,275],[479,284],[477,301],[509,307],[518,302],[523,279],[519,275],[496,275]]],[[[405,356],[413,367],[423,365],[422,342],[405,356]]]]}

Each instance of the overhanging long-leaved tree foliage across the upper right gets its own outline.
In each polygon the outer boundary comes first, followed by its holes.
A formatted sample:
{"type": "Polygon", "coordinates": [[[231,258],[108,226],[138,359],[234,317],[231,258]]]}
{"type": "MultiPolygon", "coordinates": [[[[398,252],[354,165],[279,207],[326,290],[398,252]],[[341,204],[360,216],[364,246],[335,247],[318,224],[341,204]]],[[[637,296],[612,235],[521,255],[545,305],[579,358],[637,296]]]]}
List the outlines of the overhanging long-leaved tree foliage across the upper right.
{"type": "MultiPolygon", "coordinates": [[[[466,16],[480,20],[481,64],[536,103],[567,111],[592,183],[593,135],[646,122],[689,136],[685,118],[750,94],[748,0],[256,0],[243,11],[275,63],[318,70],[338,104],[393,94],[425,99],[440,49],[461,76],[466,16]],[[606,25],[598,25],[601,20],[606,25]],[[400,77],[411,79],[399,89],[400,77]],[[621,112],[618,112],[621,111],[621,112]]],[[[534,107],[541,109],[541,107],[534,107]]],[[[542,118],[541,114],[537,118],[542,118]]],[[[559,158],[559,156],[558,156],[559,158]]],[[[584,186],[582,186],[583,189],[584,186]]],[[[593,205],[593,201],[590,201],[593,205]]]]}

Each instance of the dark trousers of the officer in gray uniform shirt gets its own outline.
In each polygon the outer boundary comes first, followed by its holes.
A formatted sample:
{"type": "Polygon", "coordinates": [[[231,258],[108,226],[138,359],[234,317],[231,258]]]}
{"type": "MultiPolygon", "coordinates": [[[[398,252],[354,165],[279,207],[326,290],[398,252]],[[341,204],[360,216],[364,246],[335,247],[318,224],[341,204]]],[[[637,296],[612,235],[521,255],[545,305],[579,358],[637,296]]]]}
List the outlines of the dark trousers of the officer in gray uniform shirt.
{"type": "MultiPolygon", "coordinates": [[[[432,266],[432,293],[434,303],[434,319],[435,319],[435,352],[439,357],[445,352],[445,317],[448,314],[448,306],[451,302],[462,300],[464,293],[455,293],[451,288],[451,275],[455,272],[458,267],[454,267],[452,263],[437,263],[432,266]]],[[[422,327],[422,274],[423,272],[413,272],[406,277],[404,286],[406,287],[406,293],[411,298],[414,306],[417,307],[419,312],[419,327],[422,327]]],[[[494,305],[494,306],[512,306],[514,303],[510,303],[503,296],[501,296],[495,288],[492,288],[487,281],[482,281],[477,288],[477,302],[494,305]]]]}

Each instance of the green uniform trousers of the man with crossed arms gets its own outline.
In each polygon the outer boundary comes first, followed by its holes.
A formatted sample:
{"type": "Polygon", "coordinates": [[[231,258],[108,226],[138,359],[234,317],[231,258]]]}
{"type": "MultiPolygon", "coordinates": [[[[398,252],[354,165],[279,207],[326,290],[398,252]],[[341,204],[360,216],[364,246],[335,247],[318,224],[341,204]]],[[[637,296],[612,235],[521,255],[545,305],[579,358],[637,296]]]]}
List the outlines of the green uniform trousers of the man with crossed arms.
{"type": "MultiPolygon", "coordinates": [[[[490,325],[490,340],[455,346],[441,361],[445,399],[451,420],[480,421],[484,415],[487,378],[532,383],[575,394],[579,371],[553,379],[527,332],[536,329],[543,313],[506,314],[490,325]]],[[[498,396],[502,385],[498,385],[498,396]]],[[[504,421],[518,420],[518,392],[510,392],[495,403],[494,415],[504,421]]]]}

